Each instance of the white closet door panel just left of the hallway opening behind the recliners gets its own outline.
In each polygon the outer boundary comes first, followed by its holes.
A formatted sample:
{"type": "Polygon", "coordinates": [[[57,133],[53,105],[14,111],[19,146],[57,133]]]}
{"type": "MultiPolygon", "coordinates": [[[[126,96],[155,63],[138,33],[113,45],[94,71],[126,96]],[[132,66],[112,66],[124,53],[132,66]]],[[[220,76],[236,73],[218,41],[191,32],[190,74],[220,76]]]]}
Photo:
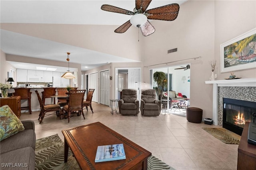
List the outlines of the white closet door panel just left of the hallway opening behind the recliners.
{"type": "Polygon", "coordinates": [[[100,72],[100,104],[109,106],[109,70],[100,72]]]}

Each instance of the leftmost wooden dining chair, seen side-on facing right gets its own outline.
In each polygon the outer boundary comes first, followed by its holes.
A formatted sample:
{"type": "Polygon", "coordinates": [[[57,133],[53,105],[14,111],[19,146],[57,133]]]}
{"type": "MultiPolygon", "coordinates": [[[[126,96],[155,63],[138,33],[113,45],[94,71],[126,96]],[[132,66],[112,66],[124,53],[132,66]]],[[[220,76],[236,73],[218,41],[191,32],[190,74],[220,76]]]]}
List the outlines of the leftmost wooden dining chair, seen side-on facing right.
{"type": "MultiPolygon", "coordinates": [[[[45,117],[45,113],[47,112],[54,112],[55,111],[60,111],[60,115],[62,115],[62,110],[60,108],[60,105],[56,105],[56,104],[50,104],[50,105],[44,105],[39,93],[37,90],[34,90],[36,92],[36,95],[37,95],[37,98],[38,98],[38,101],[39,101],[39,104],[40,104],[40,113],[39,113],[39,118],[38,118],[38,121],[40,120],[40,123],[42,123],[44,117],[45,117]]],[[[54,113],[50,113],[50,114],[47,114],[46,116],[49,116],[49,115],[53,115],[54,113]]],[[[60,116],[61,118],[61,116],[60,116]]]]}

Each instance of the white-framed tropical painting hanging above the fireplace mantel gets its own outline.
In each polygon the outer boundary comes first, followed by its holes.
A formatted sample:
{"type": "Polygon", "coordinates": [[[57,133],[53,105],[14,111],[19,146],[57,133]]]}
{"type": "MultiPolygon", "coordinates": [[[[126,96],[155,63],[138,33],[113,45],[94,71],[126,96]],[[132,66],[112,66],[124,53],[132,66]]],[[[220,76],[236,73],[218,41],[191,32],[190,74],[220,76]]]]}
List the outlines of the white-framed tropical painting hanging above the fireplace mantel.
{"type": "Polygon", "coordinates": [[[256,68],[256,28],[220,45],[220,72],[256,68]]]}

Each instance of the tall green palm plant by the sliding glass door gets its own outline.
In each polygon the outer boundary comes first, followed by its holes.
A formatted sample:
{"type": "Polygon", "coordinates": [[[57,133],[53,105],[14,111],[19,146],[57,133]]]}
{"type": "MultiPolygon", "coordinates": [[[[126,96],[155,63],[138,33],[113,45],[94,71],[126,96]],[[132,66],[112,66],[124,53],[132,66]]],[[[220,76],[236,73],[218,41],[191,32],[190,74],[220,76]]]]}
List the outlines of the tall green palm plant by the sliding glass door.
{"type": "Polygon", "coordinates": [[[157,87],[155,87],[155,89],[158,95],[158,100],[162,100],[162,93],[167,86],[166,75],[162,71],[156,71],[153,75],[153,79],[157,83],[157,87]]]}

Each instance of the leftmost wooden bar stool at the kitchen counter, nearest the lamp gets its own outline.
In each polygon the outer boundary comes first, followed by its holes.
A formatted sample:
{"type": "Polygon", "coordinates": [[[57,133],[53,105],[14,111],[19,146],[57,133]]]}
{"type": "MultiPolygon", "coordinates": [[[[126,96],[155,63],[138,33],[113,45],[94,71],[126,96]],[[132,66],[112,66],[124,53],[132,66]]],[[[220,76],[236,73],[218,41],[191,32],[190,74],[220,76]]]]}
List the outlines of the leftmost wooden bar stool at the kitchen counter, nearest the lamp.
{"type": "Polygon", "coordinates": [[[31,94],[32,92],[30,92],[30,88],[14,88],[14,96],[20,96],[20,100],[28,100],[28,106],[25,107],[20,107],[20,110],[29,110],[29,114],[32,114],[31,111],[31,94]]]}

